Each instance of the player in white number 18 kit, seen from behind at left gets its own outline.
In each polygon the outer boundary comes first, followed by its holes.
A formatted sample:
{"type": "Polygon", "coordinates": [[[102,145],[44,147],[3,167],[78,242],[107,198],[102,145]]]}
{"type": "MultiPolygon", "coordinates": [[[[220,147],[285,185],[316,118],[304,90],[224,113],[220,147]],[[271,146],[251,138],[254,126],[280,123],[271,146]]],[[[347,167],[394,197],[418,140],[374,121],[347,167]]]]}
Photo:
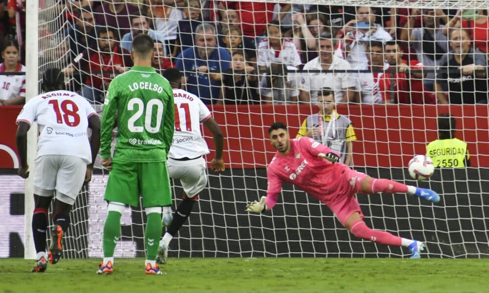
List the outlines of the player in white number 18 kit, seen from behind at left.
{"type": "Polygon", "coordinates": [[[65,77],[60,69],[43,74],[44,94],[29,100],[17,117],[17,149],[21,160],[19,175],[29,176],[27,131],[39,125],[38,156],[34,171],[34,215],[32,232],[37,257],[32,272],[44,272],[46,261],[47,209],[54,197],[52,241],[49,262],[59,261],[63,233],[69,226],[69,211],[84,182],[91,179],[93,161],[100,147],[100,118],[85,98],[62,90],[65,77]],[[87,127],[92,131],[90,141],[87,127]]]}

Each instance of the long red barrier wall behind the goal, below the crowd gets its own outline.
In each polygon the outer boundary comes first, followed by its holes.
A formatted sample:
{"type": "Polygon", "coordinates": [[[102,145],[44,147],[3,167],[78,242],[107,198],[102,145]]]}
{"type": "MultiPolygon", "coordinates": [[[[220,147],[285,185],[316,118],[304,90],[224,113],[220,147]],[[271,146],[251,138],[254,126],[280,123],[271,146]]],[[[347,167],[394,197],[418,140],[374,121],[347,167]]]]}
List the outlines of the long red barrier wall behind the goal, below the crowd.
{"type": "MultiPolygon", "coordinates": [[[[15,119],[20,106],[0,107],[0,168],[18,162],[15,119]]],[[[426,144],[437,138],[436,117],[451,113],[457,122],[455,136],[468,144],[472,167],[489,167],[489,108],[487,105],[350,105],[338,106],[356,131],[355,166],[406,167],[414,154],[424,154],[426,144]],[[463,130],[462,130],[463,129],[463,130]]],[[[295,137],[302,121],[317,107],[306,105],[213,105],[214,119],[224,132],[226,167],[266,167],[274,149],[267,128],[275,121],[289,126],[295,137]]],[[[211,134],[205,139],[213,148],[211,134]]],[[[211,154],[212,155],[212,154],[211,154]]],[[[208,160],[210,161],[210,160],[208,160]]]]}

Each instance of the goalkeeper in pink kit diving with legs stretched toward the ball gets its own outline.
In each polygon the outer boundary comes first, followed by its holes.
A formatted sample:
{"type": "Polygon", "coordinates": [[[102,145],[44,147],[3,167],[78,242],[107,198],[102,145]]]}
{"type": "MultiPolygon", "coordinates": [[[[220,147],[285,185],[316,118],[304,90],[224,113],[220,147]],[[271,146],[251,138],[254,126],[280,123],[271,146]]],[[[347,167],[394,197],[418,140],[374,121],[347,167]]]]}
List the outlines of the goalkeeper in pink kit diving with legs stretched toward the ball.
{"type": "Polygon", "coordinates": [[[339,154],[311,138],[290,139],[287,126],[276,122],[268,129],[270,143],[277,149],[267,169],[267,196],[246,207],[247,211],[272,209],[284,182],[289,182],[327,205],[341,224],[358,238],[384,245],[409,248],[411,258],[420,258],[421,241],[401,238],[389,232],[373,230],[363,222],[363,213],[355,193],[407,193],[437,203],[433,190],[404,185],[388,179],[375,179],[335,162],[339,154]]]}

